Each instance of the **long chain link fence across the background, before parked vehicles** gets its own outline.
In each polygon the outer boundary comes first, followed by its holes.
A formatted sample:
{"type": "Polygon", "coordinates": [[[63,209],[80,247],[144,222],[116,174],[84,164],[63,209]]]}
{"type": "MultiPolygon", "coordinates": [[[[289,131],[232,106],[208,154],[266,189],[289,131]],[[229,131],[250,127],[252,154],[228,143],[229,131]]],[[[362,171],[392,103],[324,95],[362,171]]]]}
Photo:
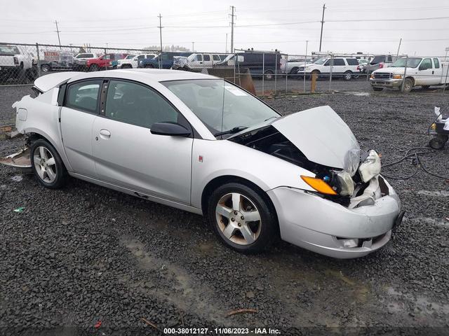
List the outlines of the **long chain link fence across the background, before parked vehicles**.
{"type": "Polygon", "coordinates": [[[302,55],[277,50],[234,50],[232,54],[198,51],[160,53],[160,50],[91,45],[0,43],[0,85],[31,84],[39,76],[55,71],[100,71],[138,66],[203,71],[226,78],[258,96],[369,92],[383,90],[384,87],[407,92],[413,87],[428,89],[432,85],[440,85],[445,90],[448,83],[447,55],[411,57],[360,52],[308,53],[307,50],[302,55]],[[404,73],[389,69],[397,59],[406,66],[404,73]],[[373,75],[377,69],[384,70],[373,75]],[[385,80],[391,85],[381,83],[385,80]]]}

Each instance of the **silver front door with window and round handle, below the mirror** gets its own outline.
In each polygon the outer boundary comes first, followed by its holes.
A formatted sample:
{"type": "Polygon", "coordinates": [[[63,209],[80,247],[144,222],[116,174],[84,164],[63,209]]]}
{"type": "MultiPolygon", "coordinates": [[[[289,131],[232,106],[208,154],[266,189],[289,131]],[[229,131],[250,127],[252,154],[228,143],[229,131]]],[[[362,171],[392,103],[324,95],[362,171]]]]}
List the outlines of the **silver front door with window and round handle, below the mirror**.
{"type": "Polygon", "coordinates": [[[150,132],[157,122],[190,127],[187,120],[145,85],[126,80],[107,85],[105,111],[93,124],[98,179],[189,204],[193,139],[150,132]]]}

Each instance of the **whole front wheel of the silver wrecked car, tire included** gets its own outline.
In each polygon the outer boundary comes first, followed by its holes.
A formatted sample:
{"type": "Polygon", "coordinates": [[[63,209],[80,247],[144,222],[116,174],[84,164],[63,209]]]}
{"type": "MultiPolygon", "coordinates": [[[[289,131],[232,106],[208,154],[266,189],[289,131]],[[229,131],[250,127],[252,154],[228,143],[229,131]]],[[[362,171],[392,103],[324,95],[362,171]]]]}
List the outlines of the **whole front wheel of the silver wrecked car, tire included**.
{"type": "Polygon", "coordinates": [[[241,253],[257,253],[271,244],[278,221],[262,193],[241,183],[227,183],[210,195],[208,218],[222,244],[241,253]]]}

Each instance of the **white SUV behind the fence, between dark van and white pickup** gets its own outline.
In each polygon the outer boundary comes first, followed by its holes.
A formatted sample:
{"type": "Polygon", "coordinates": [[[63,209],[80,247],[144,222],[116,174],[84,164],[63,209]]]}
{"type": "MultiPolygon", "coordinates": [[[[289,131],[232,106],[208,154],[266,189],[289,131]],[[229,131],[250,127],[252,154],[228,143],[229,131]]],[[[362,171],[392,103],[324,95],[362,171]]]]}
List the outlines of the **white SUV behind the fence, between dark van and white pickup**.
{"type": "Polygon", "coordinates": [[[358,77],[357,70],[358,60],[355,57],[320,57],[315,59],[313,63],[306,66],[300,66],[297,73],[300,76],[316,76],[327,78],[330,76],[332,69],[333,78],[343,78],[344,80],[350,80],[351,78],[358,77]]]}

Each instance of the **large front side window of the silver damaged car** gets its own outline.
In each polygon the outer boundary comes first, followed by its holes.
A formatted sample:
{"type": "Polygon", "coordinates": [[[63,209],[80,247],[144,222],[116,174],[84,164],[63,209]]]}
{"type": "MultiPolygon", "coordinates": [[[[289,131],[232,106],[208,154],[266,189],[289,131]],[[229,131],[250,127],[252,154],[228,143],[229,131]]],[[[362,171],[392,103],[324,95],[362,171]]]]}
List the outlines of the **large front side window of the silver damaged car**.
{"type": "Polygon", "coordinates": [[[111,80],[107,89],[105,117],[151,128],[154,123],[179,123],[182,118],[166,99],[138,83],[111,80]]]}

